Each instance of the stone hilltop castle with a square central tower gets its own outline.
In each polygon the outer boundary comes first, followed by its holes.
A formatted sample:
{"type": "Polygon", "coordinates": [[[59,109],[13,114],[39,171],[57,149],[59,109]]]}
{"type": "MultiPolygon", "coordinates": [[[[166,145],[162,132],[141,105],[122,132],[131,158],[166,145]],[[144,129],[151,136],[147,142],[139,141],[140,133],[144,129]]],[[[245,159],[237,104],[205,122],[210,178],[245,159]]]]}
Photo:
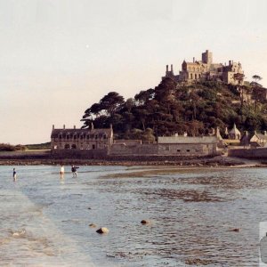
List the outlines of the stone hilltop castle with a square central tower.
{"type": "Polygon", "coordinates": [[[226,63],[224,65],[222,63],[214,63],[213,53],[206,50],[206,52],[202,53],[202,61],[195,61],[195,58],[193,58],[192,62],[183,61],[179,75],[174,75],[173,64],[171,65],[171,70],[166,65],[166,76],[162,77],[162,79],[170,77],[178,83],[211,80],[236,85],[238,83],[234,79],[236,73],[244,74],[239,62],[229,61],[228,65],[226,63]]]}

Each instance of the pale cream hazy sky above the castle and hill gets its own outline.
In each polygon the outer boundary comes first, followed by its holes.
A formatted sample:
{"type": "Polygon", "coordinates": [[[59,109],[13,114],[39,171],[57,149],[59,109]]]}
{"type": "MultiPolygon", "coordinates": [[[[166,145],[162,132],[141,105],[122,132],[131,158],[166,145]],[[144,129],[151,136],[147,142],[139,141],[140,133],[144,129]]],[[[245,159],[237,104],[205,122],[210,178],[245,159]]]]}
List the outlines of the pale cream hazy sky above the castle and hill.
{"type": "Polygon", "coordinates": [[[266,11],[265,0],[0,0],[0,143],[49,142],[105,94],[134,97],[206,49],[267,86],[266,11]]]}

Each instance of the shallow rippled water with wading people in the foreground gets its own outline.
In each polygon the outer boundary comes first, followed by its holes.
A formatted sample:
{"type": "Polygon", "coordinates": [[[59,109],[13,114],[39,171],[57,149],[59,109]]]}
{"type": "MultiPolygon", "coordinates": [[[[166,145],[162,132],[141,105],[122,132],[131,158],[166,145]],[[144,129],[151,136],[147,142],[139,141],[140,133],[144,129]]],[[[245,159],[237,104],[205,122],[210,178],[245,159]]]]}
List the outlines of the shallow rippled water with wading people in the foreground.
{"type": "Polygon", "coordinates": [[[81,166],[61,179],[59,166],[17,166],[13,182],[12,167],[0,166],[1,266],[259,264],[264,168],[81,166]]]}

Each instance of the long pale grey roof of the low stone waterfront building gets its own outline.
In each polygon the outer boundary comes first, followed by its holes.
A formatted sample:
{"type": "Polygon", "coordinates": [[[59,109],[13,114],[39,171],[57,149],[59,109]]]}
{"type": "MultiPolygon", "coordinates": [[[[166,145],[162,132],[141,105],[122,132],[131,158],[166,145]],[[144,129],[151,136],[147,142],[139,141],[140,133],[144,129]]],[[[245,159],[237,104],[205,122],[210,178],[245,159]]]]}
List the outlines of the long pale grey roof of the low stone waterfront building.
{"type": "Polygon", "coordinates": [[[160,136],[158,143],[216,143],[218,139],[216,136],[160,136]]]}

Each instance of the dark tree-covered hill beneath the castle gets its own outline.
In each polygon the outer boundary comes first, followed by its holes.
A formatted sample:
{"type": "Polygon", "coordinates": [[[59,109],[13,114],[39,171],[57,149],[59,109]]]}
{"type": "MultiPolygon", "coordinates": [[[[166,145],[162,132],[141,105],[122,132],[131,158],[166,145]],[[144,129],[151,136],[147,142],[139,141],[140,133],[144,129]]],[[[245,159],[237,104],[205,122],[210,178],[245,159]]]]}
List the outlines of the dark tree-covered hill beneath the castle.
{"type": "Polygon", "coordinates": [[[154,89],[124,100],[116,92],[85,110],[84,128],[113,125],[117,138],[152,142],[160,135],[208,134],[211,128],[235,123],[240,130],[265,130],[267,113],[264,99],[256,99],[250,85],[226,85],[204,81],[193,85],[177,84],[165,78],[154,89]]]}

